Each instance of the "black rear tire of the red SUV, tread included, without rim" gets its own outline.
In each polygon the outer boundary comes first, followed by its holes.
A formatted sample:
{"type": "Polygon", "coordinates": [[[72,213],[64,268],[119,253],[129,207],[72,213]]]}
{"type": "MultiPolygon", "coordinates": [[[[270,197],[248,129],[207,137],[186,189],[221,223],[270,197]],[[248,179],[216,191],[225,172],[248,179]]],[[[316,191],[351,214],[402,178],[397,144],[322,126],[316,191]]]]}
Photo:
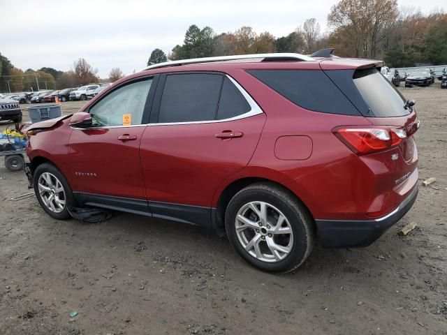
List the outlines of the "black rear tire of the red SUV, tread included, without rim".
{"type": "MultiPolygon", "coordinates": [[[[261,219],[259,220],[261,221],[261,219]]],[[[293,271],[305,262],[312,248],[314,248],[314,219],[309,214],[309,211],[291,192],[273,183],[252,184],[238,192],[230,200],[226,209],[225,227],[230,244],[237,253],[249,264],[263,271],[283,273],[293,271]],[[258,260],[242,246],[237,236],[235,222],[237,213],[249,202],[266,202],[276,207],[286,217],[293,232],[293,243],[291,244],[290,252],[284,259],[275,260],[274,262],[258,260]]],[[[268,227],[270,228],[270,226],[268,227]]],[[[269,236],[271,235],[269,234],[269,236]]],[[[266,236],[264,237],[265,239],[266,236]]],[[[267,246],[266,240],[264,242],[261,241],[261,243],[265,243],[264,248],[267,246]]]]}

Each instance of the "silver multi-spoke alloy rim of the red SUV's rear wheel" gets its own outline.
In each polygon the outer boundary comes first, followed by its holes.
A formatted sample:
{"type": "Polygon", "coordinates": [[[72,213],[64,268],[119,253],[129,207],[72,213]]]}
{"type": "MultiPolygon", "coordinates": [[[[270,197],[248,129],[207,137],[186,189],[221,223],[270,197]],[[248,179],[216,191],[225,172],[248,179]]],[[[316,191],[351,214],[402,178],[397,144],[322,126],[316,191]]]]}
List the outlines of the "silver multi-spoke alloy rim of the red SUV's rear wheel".
{"type": "Polygon", "coordinates": [[[292,251],[291,224],[268,202],[244,204],[237,212],[235,230],[242,247],[257,260],[279,262],[292,251]]]}

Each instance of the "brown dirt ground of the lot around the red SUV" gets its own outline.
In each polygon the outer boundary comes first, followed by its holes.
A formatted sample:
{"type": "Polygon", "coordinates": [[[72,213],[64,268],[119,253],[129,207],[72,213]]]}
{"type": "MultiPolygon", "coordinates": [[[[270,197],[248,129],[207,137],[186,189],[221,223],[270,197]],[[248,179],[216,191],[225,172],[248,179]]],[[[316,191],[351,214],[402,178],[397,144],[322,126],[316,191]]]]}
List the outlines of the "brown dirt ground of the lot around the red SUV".
{"type": "Polygon", "coordinates": [[[420,178],[437,181],[372,246],[316,246],[286,275],[189,225],[54,221],[34,196],[10,200],[27,181],[0,159],[0,334],[447,334],[447,89],[400,90],[421,120],[420,178]]]}

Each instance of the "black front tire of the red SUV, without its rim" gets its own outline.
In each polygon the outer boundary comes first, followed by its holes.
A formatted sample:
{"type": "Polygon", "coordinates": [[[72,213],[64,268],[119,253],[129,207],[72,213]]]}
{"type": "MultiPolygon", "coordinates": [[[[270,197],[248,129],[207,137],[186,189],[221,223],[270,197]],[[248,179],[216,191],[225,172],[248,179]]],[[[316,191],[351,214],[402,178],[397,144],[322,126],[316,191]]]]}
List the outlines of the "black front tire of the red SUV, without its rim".
{"type": "Polygon", "coordinates": [[[73,191],[71,191],[71,187],[68,185],[68,181],[64,177],[64,174],[59,171],[54,165],[50,163],[42,163],[41,165],[38,165],[36,170],[34,171],[34,177],[33,177],[33,184],[34,184],[34,193],[36,193],[36,198],[43,208],[43,210],[52,218],[55,218],[57,220],[66,220],[67,218],[71,218],[70,213],[68,212],[67,207],[68,206],[75,206],[75,198],[73,197],[73,191]],[[59,179],[62,187],[64,188],[64,195],[65,195],[65,206],[62,211],[59,213],[56,213],[54,211],[51,211],[47,208],[45,203],[42,200],[41,194],[39,193],[38,189],[38,180],[39,177],[41,177],[41,174],[44,172],[49,172],[50,174],[53,174],[54,177],[59,179]]]}

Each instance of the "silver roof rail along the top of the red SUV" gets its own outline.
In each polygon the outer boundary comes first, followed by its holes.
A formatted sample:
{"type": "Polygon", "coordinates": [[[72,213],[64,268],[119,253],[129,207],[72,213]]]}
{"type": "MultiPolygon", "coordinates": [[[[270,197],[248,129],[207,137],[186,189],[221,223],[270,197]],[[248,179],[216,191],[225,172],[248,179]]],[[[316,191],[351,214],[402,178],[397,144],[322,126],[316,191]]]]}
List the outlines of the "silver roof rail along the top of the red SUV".
{"type": "Polygon", "coordinates": [[[312,57],[304,54],[293,53],[272,53],[272,54],[238,54],[235,56],[219,56],[219,57],[204,57],[193,59],[180,59],[179,61],[165,61],[163,63],[147,66],[145,70],[152,70],[153,68],[166,68],[168,66],[182,66],[187,64],[212,63],[214,61],[237,61],[244,59],[261,59],[261,61],[314,61],[312,57]]]}

